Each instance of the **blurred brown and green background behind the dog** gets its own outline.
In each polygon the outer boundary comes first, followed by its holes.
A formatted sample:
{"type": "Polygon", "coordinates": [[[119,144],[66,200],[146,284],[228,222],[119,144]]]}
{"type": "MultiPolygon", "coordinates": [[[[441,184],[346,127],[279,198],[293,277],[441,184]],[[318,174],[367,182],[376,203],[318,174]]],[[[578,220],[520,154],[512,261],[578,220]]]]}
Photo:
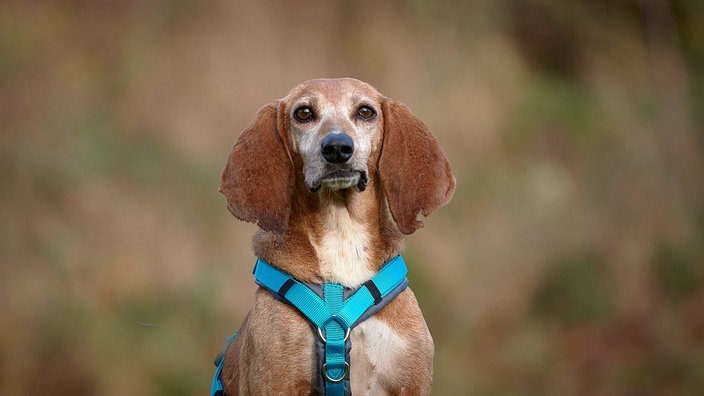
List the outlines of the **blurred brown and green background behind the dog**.
{"type": "Polygon", "coordinates": [[[453,165],[406,253],[433,394],[704,394],[703,26],[698,0],[3,1],[0,394],[205,394],[255,288],[220,171],[326,76],[453,165]]]}

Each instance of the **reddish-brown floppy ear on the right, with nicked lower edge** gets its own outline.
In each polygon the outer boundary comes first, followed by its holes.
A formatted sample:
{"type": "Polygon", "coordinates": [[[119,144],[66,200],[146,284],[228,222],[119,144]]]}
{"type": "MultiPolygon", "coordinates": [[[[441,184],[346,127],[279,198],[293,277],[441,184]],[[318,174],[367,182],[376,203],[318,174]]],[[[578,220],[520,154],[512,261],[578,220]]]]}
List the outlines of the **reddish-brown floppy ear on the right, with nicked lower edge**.
{"type": "Polygon", "coordinates": [[[437,139],[403,103],[386,100],[384,142],[379,159],[381,185],[399,230],[423,226],[416,217],[444,206],[455,192],[455,177],[437,139]]]}

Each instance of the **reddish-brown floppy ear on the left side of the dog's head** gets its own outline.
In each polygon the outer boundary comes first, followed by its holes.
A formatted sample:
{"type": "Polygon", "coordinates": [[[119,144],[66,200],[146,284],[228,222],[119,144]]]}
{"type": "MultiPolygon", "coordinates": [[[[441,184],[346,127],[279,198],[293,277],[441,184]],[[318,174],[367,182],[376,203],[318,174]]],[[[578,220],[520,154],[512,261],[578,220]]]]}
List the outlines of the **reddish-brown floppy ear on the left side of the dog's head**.
{"type": "Polygon", "coordinates": [[[291,212],[293,165],[268,104],[237,139],[220,178],[227,208],[265,231],[284,232],[291,212]]]}

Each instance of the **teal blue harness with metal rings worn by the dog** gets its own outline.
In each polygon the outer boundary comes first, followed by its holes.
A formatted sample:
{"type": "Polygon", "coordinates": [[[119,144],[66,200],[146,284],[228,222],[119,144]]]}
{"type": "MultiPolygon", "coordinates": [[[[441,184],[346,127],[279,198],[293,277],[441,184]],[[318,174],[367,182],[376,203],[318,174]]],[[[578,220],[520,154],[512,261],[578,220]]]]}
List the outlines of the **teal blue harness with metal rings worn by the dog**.
{"type": "MultiPolygon", "coordinates": [[[[350,330],[371,317],[408,286],[408,270],[401,256],[384,264],[371,280],[357,289],[336,283],[311,284],[294,279],[262,259],[254,266],[256,283],[278,300],[294,306],[305,316],[316,337],[319,373],[316,391],[320,395],[350,395],[350,330]]],[[[225,396],[221,372],[225,352],[237,333],[228,337],[215,358],[215,376],[210,396],[225,396]]]]}

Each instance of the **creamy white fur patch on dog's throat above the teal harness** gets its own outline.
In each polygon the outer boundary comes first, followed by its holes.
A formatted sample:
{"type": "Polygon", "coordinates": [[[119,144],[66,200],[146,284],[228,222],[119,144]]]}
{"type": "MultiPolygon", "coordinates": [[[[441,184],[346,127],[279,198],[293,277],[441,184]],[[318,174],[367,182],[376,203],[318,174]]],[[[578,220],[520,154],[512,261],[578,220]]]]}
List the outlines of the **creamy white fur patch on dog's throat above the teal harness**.
{"type": "Polygon", "coordinates": [[[313,243],[325,282],[358,287],[374,276],[369,263],[369,234],[344,206],[330,205],[321,216],[322,238],[313,243]]]}

